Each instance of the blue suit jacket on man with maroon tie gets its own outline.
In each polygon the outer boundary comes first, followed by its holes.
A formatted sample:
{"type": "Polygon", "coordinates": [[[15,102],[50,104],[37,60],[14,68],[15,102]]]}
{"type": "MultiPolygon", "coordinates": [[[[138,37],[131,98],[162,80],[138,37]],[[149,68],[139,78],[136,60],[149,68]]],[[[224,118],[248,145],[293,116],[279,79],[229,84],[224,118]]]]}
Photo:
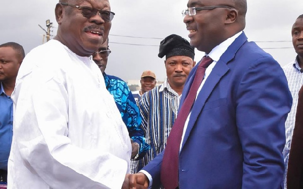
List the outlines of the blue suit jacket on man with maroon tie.
{"type": "MultiPolygon", "coordinates": [[[[181,104],[195,73],[196,67],[181,104]]],[[[248,42],[243,32],[221,56],[194,102],[179,154],[179,187],[280,188],[284,123],[291,104],[278,62],[248,42]]],[[[163,153],[143,168],[153,177],[153,187],[160,184],[163,153]]]]}

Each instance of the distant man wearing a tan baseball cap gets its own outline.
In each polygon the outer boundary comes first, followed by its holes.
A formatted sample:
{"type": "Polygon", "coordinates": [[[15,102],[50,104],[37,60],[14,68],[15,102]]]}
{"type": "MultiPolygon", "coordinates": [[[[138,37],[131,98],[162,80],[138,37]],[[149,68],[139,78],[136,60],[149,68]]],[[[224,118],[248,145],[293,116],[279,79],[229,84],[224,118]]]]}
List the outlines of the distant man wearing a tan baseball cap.
{"type": "Polygon", "coordinates": [[[150,91],[151,89],[154,89],[156,86],[157,80],[156,80],[156,75],[154,72],[151,72],[149,70],[146,70],[142,73],[141,75],[141,89],[138,91],[132,92],[135,100],[142,96],[145,92],[150,91]]]}

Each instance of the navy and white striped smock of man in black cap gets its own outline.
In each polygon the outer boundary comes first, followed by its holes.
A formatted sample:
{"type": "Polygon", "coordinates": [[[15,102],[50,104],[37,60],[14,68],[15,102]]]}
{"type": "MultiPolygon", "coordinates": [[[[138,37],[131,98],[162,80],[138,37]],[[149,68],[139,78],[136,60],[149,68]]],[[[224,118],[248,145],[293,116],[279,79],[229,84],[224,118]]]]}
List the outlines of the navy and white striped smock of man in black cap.
{"type": "Polygon", "coordinates": [[[142,128],[150,150],[139,160],[140,170],[165,148],[168,135],[177,117],[181,96],[166,80],[161,86],[145,92],[137,104],[142,117],[142,128]]]}

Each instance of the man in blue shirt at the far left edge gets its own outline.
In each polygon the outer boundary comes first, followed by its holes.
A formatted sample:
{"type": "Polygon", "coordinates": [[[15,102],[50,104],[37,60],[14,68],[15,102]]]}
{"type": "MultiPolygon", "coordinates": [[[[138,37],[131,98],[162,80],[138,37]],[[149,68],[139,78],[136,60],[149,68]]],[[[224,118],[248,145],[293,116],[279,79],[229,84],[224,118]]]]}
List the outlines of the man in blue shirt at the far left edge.
{"type": "Polygon", "coordinates": [[[0,45],[0,180],[7,182],[8,159],[13,137],[13,100],[18,70],[25,56],[15,42],[0,45]]]}

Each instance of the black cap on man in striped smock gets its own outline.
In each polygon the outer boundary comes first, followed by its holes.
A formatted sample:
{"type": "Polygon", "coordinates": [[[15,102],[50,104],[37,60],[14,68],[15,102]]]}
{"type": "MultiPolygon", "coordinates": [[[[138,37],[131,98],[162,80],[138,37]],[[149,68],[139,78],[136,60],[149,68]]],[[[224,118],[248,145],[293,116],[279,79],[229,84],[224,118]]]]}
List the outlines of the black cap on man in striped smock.
{"type": "Polygon", "coordinates": [[[171,56],[188,56],[194,59],[194,48],[183,37],[172,34],[160,42],[158,56],[163,58],[165,55],[166,59],[171,56]]]}

